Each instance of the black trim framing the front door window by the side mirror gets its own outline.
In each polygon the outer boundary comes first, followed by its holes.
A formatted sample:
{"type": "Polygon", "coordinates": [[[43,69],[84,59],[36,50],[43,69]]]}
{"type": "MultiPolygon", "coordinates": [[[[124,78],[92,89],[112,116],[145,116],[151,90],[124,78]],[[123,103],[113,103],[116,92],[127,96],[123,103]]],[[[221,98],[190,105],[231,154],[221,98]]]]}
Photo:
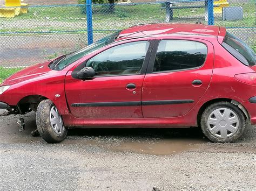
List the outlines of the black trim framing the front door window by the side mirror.
{"type": "MultiPolygon", "coordinates": [[[[151,52],[152,52],[152,49],[154,48],[154,44],[155,44],[155,41],[156,39],[151,39],[151,40],[146,40],[146,39],[138,39],[136,41],[129,41],[129,42],[124,42],[122,44],[117,44],[115,46],[119,46],[119,45],[123,45],[123,44],[127,44],[127,43],[135,43],[135,42],[139,42],[139,41],[148,41],[150,44],[149,44],[149,48],[147,49],[147,52],[146,52],[146,55],[145,55],[145,59],[142,63],[142,69],[140,70],[140,73],[134,73],[134,74],[111,74],[111,75],[95,75],[93,77],[96,78],[96,77],[113,77],[113,76],[129,76],[129,75],[142,75],[142,74],[146,74],[146,70],[147,70],[147,67],[149,65],[149,61],[150,61],[150,58],[151,58],[151,52]]],[[[115,47],[115,46],[111,46],[109,48],[112,48],[112,47],[115,47]]],[[[109,49],[107,48],[107,49],[109,49]]],[[[105,49],[104,51],[106,51],[107,49],[105,49]]],[[[101,51],[99,52],[98,54],[104,52],[104,51],[101,51]]],[[[77,72],[80,71],[82,68],[84,68],[86,66],[86,63],[88,60],[90,60],[91,58],[93,58],[94,56],[98,55],[98,54],[95,54],[93,56],[90,56],[90,58],[86,59],[84,62],[82,63],[79,63],[79,65],[73,69],[72,73],[71,73],[71,76],[73,77],[73,79],[79,79],[79,77],[77,76],[77,72]]]]}

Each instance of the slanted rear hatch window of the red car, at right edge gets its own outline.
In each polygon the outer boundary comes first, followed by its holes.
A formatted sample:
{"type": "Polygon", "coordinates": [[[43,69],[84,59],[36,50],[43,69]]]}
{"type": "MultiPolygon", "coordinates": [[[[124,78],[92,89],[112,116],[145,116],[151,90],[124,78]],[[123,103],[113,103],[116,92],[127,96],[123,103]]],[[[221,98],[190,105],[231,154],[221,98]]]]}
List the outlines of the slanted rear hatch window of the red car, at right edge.
{"type": "Polygon", "coordinates": [[[244,63],[244,65],[255,65],[255,53],[252,48],[246,45],[241,39],[233,36],[233,34],[227,32],[222,45],[236,59],[244,63]]]}

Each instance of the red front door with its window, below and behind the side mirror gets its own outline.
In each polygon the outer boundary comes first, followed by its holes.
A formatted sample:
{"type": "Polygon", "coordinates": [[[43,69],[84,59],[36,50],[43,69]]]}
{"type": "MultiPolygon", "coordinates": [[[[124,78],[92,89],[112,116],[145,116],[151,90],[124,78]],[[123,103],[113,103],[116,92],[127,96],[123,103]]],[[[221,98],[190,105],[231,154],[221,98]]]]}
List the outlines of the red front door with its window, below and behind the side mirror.
{"type": "MultiPolygon", "coordinates": [[[[134,41],[106,49],[77,68],[92,67],[91,80],[66,75],[65,92],[71,114],[77,118],[141,118],[141,91],[150,41],[134,41]]],[[[78,71],[79,71],[78,70],[78,71]]]]}

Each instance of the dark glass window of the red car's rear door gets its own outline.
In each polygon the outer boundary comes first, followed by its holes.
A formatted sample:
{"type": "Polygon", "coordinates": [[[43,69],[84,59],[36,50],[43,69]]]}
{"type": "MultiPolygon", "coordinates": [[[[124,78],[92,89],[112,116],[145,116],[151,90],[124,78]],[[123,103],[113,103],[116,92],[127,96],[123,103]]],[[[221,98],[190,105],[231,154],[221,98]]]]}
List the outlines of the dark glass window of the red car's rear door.
{"type": "Polygon", "coordinates": [[[158,46],[153,72],[184,70],[204,64],[207,47],[190,40],[161,40],[158,46]]]}

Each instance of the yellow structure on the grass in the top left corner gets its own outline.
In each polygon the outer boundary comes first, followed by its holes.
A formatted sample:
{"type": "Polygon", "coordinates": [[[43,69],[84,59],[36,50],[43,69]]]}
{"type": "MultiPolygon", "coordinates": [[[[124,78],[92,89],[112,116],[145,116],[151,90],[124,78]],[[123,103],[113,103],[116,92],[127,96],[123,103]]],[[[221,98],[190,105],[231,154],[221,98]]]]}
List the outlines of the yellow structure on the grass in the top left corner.
{"type": "Polygon", "coordinates": [[[11,18],[29,11],[29,4],[21,3],[21,0],[5,0],[5,5],[1,6],[0,17],[11,18]]]}

